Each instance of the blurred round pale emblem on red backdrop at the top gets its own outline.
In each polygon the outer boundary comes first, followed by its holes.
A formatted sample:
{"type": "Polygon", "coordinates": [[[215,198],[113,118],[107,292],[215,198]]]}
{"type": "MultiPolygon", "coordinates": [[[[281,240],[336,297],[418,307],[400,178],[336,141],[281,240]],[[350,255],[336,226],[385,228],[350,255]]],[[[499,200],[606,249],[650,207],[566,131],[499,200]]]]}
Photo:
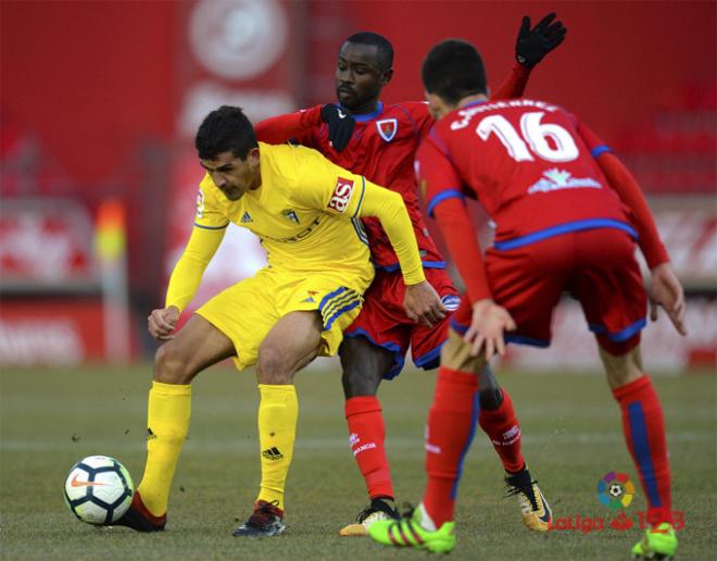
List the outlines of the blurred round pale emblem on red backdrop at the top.
{"type": "Polygon", "coordinates": [[[192,51],[227,79],[256,76],[284,51],[287,22],[276,0],[200,0],[189,17],[192,51]]]}

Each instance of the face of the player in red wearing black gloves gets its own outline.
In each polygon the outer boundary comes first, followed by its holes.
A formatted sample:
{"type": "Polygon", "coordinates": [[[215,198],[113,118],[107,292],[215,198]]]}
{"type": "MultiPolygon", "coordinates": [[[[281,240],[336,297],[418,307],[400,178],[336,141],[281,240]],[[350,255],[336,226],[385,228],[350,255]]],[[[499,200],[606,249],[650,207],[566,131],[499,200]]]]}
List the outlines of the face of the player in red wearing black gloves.
{"type": "Polygon", "coordinates": [[[352,113],[370,113],[392,74],[380,70],[375,45],[344,42],[336,64],[336,97],[352,113]]]}

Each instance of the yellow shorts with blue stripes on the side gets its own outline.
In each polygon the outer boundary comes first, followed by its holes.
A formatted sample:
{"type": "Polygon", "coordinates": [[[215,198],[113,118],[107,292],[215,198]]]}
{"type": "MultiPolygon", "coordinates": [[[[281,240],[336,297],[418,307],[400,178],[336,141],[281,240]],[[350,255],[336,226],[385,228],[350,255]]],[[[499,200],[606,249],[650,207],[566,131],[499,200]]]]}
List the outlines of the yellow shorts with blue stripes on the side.
{"type": "Polygon", "coordinates": [[[231,339],[235,364],[243,370],[256,363],[260,345],[289,312],[320,312],[324,331],[318,356],[336,354],[343,329],[356,319],[362,304],[362,294],[341,286],[336,276],[299,277],[266,267],[219,292],[197,313],[231,339]]]}

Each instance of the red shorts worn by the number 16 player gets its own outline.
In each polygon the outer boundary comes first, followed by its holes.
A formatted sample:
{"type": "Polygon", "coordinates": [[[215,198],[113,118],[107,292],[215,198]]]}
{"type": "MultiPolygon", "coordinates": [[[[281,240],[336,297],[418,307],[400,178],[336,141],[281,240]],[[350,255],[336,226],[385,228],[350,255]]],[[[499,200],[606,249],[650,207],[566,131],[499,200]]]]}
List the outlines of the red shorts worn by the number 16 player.
{"type": "MultiPolygon", "coordinates": [[[[486,270],[493,299],[517,324],[505,334],[507,341],[548,347],[553,309],[567,291],[580,301],[588,327],[605,350],[620,356],[640,342],[647,296],[634,242],[625,232],[590,229],[511,250],[490,248],[486,270]]],[[[471,315],[464,295],[451,326],[465,333],[471,315]]]]}

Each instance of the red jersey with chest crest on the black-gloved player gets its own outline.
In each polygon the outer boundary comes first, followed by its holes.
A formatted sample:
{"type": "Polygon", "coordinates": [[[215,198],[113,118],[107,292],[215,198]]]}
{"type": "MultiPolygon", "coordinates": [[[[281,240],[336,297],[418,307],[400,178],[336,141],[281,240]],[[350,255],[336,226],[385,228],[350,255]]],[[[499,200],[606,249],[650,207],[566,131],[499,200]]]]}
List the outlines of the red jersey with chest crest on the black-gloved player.
{"type": "MultiPolygon", "coordinates": [[[[399,192],[413,223],[424,266],[444,266],[441,254],[420,213],[416,177],[413,170],[416,150],[433,120],[426,103],[406,102],[383,105],[367,115],[357,115],[356,128],[348,146],[337,152],[328,139],[328,125],[320,120],[320,105],[256,125],[256,136],[263,141],[286,139],[287,130],[295,140],[315,148],[334,163],[363,175],[370,182],[399,192]],[[284,121],[281,121],[284,120],[284,121]],[[298,121],[297,121],[298,120],[298,121]]],[[[398,271],[399,260],[378,219],[362,219],[374,263],[387,271],[398,271]]]]}

